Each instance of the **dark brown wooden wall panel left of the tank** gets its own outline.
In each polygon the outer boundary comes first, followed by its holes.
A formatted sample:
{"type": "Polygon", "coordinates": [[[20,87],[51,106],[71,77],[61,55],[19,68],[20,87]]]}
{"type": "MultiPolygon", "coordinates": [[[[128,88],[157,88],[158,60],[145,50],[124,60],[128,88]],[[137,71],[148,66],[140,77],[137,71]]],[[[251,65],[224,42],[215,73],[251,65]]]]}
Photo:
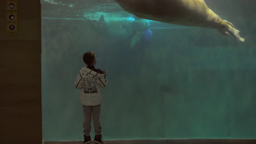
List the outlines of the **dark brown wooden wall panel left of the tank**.
{"type": "Polygon", "coordinates": [[[0,1],[0,143],[42,143],[40,0],[18,1],[19,31],[6,32],[0,1]]]}

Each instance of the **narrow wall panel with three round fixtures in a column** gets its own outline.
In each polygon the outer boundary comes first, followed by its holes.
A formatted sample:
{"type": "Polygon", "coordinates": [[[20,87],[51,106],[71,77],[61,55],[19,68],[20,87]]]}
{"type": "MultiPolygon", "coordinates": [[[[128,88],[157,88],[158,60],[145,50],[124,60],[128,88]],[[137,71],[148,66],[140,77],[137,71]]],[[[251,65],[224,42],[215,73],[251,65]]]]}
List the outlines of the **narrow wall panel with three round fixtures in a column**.
{"type": "Polygon", "coordinates": [[[18,33],[18,0],[6,1],[6,27],[8,34],[18,33]]]}

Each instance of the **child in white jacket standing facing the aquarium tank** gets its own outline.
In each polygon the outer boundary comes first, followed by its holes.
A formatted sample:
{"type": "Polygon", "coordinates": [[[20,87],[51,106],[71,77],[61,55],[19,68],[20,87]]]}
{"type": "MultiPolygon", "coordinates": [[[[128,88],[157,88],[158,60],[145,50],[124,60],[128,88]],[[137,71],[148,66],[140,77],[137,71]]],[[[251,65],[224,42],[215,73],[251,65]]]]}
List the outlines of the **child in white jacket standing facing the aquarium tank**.
{"type": "Polygon", "coordinates": [[[80,101],[84,111],[84,143],[91,143],[91,118],[94,120],[95,138],[94,142],[103,143],[101,135],[101,87],[107,86],[106,71],[95,69],[96,58],[94,52],[89,51],[83,55],[84,63],[87,67],[83,67],[75,80],[75,88],[82,89],[80,101]]]}

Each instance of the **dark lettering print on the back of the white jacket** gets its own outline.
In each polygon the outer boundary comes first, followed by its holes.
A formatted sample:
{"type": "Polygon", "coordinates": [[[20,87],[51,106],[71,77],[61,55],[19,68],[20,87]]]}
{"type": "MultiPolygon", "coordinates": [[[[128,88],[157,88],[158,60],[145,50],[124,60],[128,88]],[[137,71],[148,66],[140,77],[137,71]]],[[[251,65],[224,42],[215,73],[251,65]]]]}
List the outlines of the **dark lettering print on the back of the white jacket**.
{"type": "Polygon", "coordinates": [[[92,78],[92,77],[83,77],[83,90],[84,93],[97,93],[98,89],[98,78],[92,78]]]}

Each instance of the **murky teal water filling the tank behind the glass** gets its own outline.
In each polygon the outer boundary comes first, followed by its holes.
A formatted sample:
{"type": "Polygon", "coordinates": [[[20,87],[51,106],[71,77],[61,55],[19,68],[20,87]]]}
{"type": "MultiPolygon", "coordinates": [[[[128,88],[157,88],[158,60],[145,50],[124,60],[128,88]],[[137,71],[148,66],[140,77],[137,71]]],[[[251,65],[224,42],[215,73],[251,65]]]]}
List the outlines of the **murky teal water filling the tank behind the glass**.
{"type": "Polygon", "coordinates": [[[139,19],[112,0],[41,0],[44,141],[83,139],[74,81],[87,51],[108,72],[103,140],[256,139],[256,1],[205,2],[245,42],[139,19]]]}

